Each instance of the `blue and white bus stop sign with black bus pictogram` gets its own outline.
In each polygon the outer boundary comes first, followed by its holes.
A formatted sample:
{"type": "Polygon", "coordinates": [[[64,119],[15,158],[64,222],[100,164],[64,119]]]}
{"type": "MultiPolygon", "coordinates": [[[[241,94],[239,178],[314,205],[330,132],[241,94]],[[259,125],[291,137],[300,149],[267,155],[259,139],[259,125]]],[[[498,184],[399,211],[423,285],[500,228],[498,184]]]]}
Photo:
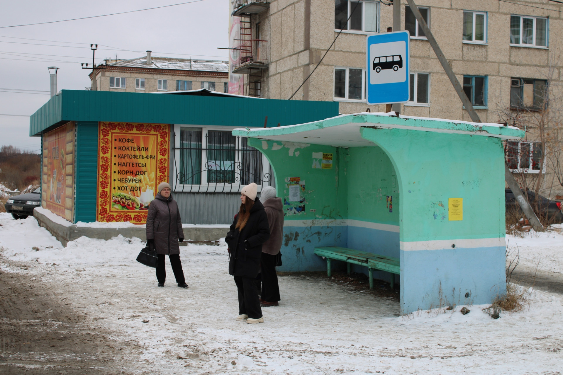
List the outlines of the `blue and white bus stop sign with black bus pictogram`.
{"type": "Polygon", "coordinates": [[[367,41],[368,104],[409,101],[409,31],[371,34],[367,41]]]}

